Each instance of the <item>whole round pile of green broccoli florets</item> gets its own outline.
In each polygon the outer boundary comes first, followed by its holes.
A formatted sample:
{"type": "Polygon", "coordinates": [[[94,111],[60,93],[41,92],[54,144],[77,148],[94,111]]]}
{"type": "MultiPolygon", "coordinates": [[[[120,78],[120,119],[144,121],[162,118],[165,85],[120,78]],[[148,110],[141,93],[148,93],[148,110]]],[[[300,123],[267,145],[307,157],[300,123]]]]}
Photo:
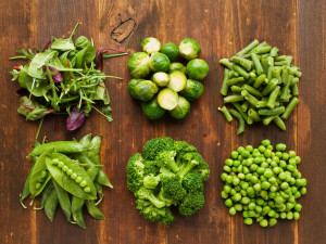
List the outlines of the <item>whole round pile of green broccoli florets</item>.
{"type": "Polygon", "coordinates": [[[175,217],[172,206],[183,216],[197,213],[204,205],[203,181],[210,167],[196,147],[185,141],[154,138],[126,167],[127,185],[136,197],[136,208],[152,222],[170,224],[175,217]]]}

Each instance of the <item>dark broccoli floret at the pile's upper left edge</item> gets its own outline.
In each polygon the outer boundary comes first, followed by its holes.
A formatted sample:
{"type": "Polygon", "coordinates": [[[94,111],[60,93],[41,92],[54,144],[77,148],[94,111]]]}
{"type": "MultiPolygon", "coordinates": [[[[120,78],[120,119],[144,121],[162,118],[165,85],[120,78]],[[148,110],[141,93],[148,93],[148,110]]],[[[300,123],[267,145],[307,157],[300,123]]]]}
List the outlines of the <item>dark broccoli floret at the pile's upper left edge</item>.
{"type": "Polygon", "coordinates": [[[154,160],[158,154],[164,150],[170,151],[174,147],[172,138],[154,138],[149,140],[143,149],[143,158],[154,160]]]}

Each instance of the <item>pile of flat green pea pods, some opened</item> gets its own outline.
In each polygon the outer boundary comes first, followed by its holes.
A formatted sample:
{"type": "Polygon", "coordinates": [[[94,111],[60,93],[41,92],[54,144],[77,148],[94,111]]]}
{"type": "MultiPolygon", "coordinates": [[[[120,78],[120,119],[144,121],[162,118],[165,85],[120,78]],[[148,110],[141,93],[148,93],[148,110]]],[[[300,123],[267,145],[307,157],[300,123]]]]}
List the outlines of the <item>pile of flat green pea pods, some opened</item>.
{"type": "Polygon", "coordinates": [[[102,185],[113,188],[100,164],[101,136],[87,134],[79,142],[57,141],[35,143],[28,157],[32,168],[20,194],[24,200],[40,195],[38,207],[52,221],[60,205],[67,221],[86,228],[83,207],[96,219],[105,219],[98,207],[103,198],[102,185]]]}

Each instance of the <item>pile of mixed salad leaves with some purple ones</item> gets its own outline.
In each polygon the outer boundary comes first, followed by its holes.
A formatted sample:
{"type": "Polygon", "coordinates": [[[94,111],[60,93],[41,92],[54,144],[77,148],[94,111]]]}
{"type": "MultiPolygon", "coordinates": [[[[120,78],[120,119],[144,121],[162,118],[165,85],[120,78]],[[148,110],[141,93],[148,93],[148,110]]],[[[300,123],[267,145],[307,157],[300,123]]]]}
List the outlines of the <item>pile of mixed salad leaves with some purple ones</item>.
{"type": "Polygon", "coordinates": [[[30,49],[17,50],[22,54],[10,60],[25,59],[25,66],[14,66],[12,80],[17,80],[21,88],[29,95],[22,97],[17,112],[27,120],[37,120],[48,114],[68,114],[67,130],[79,128],[92,108],[112,121],[110,97],[104,80],[106,76],[97,69],[103,59],[127,54],[120,50],[95,49],[92,41],[79,36],[75,42],[73,36],[78,24],[67,39],[52,38],[43,50],[34,53],[30,49]],[[104,54],[113,50],[117,54],[104,54]],[[100,103],[102,111],[95,107],[100,103]]]}

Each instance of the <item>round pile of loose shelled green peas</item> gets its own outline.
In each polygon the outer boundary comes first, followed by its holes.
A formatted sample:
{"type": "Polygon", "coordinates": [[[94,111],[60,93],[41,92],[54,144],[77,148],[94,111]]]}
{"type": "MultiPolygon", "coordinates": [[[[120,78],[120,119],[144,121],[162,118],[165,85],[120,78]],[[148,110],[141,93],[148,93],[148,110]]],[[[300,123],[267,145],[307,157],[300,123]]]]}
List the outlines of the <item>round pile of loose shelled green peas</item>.
{"type": "Polygon", "coordinates": [[[266,139],[258,149],[239,146],[225,160],[222,197],[230,215],[242,211],[246,224],[255,219],[261,227],[273,227],[277,219],[300,218],[297,200],[306,193],[306,179],[297,168],[301,158],[285,152],[284,143],[275,149],[266,139]]]}

